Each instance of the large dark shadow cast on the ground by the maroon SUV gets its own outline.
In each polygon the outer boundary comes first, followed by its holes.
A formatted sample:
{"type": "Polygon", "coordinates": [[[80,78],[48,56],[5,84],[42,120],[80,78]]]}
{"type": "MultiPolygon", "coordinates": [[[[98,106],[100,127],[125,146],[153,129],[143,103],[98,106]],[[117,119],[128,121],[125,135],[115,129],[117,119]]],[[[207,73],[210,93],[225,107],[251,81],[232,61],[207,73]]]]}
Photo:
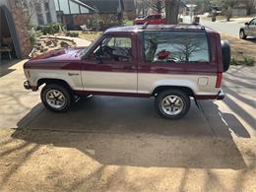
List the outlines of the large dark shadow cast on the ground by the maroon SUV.
{"type": "MultiPolygon", "coordinates": [[[[43,110],[31,121],[26,119],[32,115],[28,114],[12,137],[75,148],[106,165],[246,167],[228,125],[238,120],[222,114],[212,101],[200,105],[201,111],[193,104],[185,118],[168,121],[156,114],[152,99],[94,96],[76,103],[67,113],[43,110]],[[209,108],[217,124],[205,115],[209,108]]],[[[232,131],[249,137],[241,124],[232,131]]]]}

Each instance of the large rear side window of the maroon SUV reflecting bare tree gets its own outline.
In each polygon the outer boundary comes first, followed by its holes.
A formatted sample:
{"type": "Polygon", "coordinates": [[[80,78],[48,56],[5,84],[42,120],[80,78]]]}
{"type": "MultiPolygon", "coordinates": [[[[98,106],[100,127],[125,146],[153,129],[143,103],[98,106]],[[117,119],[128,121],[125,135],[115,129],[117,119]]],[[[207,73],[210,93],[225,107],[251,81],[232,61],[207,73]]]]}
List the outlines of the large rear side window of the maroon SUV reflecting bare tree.
{"type": "Polygon", "coordinates": [[[206,32],[143,32],[143,54],[148,63],[209,63],[206,32]]]}

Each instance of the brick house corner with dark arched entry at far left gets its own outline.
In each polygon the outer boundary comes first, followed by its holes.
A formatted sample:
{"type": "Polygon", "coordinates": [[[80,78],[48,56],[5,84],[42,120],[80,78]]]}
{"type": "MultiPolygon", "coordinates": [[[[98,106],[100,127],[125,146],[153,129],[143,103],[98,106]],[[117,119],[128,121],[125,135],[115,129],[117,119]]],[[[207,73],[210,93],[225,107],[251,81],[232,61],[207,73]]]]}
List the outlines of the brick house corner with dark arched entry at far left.
{"type": "Polygon", "coordinates": [[[19,3],[0,0],[0,61],[4,58],[26,58],[32,50],[26,18],[19,3]]]}

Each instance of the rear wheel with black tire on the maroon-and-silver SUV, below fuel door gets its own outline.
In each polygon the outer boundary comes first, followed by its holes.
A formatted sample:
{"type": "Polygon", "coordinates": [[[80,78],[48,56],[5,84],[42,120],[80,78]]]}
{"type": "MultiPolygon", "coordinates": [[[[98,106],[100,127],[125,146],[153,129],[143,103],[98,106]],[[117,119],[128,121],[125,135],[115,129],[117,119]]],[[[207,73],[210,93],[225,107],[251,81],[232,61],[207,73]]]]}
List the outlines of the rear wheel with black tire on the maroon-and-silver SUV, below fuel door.
{"type": "Polygon", "coordinates": [[[189,96],[179,90],[163,91],[155,100],[158,113],[161,117],[166,119],[174,120],[184,117],[188,113],[190,105],[189,96]]]}

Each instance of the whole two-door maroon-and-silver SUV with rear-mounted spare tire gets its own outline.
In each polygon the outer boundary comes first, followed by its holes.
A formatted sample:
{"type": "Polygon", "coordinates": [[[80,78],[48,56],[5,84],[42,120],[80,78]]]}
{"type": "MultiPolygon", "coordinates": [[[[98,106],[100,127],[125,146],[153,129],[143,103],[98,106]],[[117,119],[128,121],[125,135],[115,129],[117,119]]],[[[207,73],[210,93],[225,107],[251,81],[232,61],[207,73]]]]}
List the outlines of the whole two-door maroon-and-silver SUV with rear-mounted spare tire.
{"type": "Polygon", "coordinates": [[[156,97],[160,116],[183,117],[190,97],[223,99],[228,41],[199,25],[109,29],[89,46],[50,51],[24,65],[25,88],[65,111],[78,96],[156,97]]]}

